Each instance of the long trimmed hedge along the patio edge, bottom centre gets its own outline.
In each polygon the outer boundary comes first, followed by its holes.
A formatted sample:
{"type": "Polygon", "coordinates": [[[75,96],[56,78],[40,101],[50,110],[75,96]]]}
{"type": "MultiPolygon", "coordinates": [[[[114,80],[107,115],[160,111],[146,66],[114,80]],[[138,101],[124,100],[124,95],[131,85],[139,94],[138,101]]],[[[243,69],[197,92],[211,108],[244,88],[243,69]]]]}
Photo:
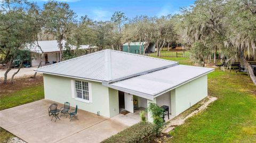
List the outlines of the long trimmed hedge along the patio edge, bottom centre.
{"type": "Polygon", "coordinates": [[[110,138],[103,140],[102,143],[108,142],[122,142],[122,143],[130,143],[130,142],[139,142],[144,138],[150,136],[150,134],[154,134],[155,125],[151,123],[137,123],[132,125],[131,127],[111,136],[110,138]]]}

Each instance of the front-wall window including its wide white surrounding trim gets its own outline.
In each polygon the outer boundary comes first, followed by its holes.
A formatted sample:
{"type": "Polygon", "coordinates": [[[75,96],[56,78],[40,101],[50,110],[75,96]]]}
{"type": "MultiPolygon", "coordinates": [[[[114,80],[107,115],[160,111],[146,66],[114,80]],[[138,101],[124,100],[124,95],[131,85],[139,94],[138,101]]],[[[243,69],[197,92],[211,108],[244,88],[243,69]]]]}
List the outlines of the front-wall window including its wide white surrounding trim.
{"type": "Polygon", "coordinates": [[[91,94],[91,83],[82,81],[82,80],[74,80],[74,95],[75,99],[85,103],[92,103],[92,94],[91,94]],[[80,84],[80,85],[77,85],[80,84]],[[80,91],[79,91],[80,90],[80,91]],[[81,93],[81,97],[77,97],[77,93],[81,93]],[[87,92],[87,95],[86,95],[87,92]]]}

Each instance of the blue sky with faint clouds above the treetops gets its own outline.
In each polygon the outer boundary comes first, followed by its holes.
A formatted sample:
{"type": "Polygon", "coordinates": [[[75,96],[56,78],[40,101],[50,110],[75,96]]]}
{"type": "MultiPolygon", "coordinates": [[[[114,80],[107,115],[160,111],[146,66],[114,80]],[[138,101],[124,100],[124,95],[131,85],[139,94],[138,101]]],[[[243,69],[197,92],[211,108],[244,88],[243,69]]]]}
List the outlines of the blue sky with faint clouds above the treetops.
{"type": "MultiPolygon", "coordinates": [[[[35,1],[35,0],[34,0],[35,1]]],[[[58,0],[70,5],[78,18],[88,15],[93,20],[110,20],[116,11],[124,12],[128,18],[136,15],[161,16],[180,13],[180,7],[187,7],[194,3],[194,0],[58,0]]],[[[37,0],[37,4],[43,8],[47,0],[37,0]]]]}

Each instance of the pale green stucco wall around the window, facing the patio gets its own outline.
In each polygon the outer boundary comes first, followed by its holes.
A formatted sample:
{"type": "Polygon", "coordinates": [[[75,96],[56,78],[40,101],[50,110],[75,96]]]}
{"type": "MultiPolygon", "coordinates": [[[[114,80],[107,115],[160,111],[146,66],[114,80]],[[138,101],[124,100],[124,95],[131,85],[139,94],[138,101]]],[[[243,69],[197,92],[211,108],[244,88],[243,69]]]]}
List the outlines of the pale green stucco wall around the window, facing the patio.
{"type": "Polygon", "coordinates": [[[92,103],[85,103],[72,98],[71,80],[76,79],[44,74],[45,99],[62,104],[70,102],[71,106],[75,107],[77,105],[79,109],[91,113],[97,114],[100,111],[100,115],[105,117],[111,117],[119,113],[117,90],[104,87],[100,82],[82,80],[92,84],[92,103]],[[115,108],[115,111],[113,108],[115,108]]]}

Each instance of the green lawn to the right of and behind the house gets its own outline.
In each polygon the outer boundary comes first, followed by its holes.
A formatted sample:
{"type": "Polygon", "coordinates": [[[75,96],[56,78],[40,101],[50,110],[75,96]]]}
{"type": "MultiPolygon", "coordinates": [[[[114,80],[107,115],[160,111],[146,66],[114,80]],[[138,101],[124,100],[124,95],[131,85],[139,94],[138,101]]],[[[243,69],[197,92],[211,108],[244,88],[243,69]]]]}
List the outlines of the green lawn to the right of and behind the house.
{"type": "MultiPolygon", "coordinates": [[[[188,57],[161,58],[192,64],[188,57]]],[[[256,86],[250,77],[215,69],[208,89],[218,100],[170,132],[167,142],[256,142],[256,86]]]]}

